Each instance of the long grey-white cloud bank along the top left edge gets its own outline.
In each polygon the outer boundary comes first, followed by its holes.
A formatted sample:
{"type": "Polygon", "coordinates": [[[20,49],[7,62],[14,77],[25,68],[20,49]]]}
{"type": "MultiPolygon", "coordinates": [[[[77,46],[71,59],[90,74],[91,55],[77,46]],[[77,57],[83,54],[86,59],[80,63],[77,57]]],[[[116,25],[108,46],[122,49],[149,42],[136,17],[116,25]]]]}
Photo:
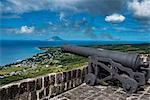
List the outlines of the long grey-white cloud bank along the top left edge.
{"type": "Polygon", "coordinates": [[[40,10],[75,9],[74,5],[80,0],[6,0],[0,3],[2,12],[24,13],[40,10]]]}

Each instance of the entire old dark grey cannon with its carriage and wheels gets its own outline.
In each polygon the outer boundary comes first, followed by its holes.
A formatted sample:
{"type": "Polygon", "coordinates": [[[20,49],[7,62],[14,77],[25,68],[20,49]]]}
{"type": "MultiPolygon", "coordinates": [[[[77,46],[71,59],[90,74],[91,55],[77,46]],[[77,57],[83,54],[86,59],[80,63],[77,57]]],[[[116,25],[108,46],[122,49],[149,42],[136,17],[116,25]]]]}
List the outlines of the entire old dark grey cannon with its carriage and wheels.
{"type": "Polygon", "coordinates": [[[139,54],[69,45],[62,46],[61,50],[89,58],[84,80],[91,86],[118,81],[124,91],[134,93],[150,78],[149,62],[143,62],[139,54]]]}

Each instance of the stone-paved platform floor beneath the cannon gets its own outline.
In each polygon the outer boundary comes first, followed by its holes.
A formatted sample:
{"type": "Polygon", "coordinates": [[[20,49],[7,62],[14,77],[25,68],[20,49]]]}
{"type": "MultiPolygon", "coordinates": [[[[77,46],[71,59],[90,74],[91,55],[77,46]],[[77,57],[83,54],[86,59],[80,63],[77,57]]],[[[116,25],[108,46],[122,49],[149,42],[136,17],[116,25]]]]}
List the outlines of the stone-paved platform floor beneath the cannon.
{"type": "Polygon", "coordinates": [[[126,94],[122,88],[114,86],[88,86],[82,85],[57,95],[50,100],[150,100],[150,85],[144,91],[136,94],[126,94]]]}

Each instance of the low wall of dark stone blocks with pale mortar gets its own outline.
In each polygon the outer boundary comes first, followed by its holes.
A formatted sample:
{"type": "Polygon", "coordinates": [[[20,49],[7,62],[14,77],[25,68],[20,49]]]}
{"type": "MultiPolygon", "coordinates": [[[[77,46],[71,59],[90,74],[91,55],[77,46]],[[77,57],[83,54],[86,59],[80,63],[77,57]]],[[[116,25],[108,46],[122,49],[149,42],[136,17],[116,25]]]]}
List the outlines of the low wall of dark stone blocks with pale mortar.
{"type": "Polygon", "coordinates": [[[48,100],[83,83],[87,67],[50,73],[0,87],[0,100],[48,100]]]}

